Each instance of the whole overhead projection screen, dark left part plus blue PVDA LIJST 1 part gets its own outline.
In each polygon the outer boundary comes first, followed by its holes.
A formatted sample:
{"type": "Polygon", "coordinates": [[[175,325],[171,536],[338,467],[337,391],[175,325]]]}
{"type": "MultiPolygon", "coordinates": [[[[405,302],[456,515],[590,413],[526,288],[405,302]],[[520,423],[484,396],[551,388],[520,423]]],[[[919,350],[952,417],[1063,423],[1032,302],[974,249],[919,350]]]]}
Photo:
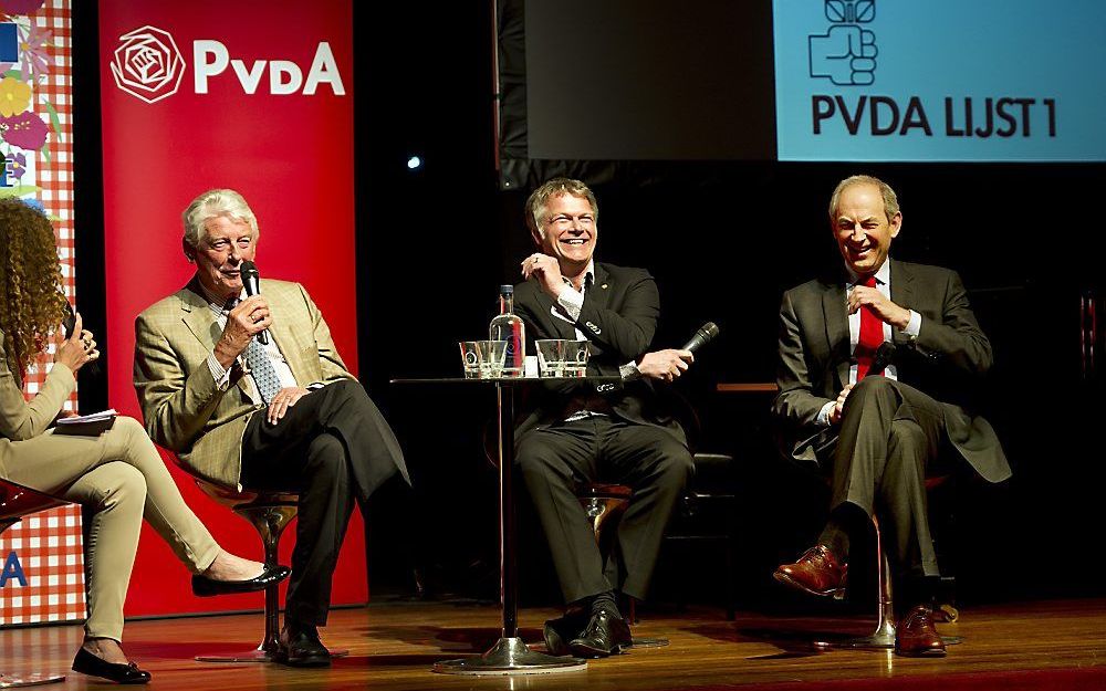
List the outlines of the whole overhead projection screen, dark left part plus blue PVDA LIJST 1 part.
{"type": "Polygon", "coordinates": [[[499,1],[504,159],[1106,161],[1106,0],[499,1]]]}

